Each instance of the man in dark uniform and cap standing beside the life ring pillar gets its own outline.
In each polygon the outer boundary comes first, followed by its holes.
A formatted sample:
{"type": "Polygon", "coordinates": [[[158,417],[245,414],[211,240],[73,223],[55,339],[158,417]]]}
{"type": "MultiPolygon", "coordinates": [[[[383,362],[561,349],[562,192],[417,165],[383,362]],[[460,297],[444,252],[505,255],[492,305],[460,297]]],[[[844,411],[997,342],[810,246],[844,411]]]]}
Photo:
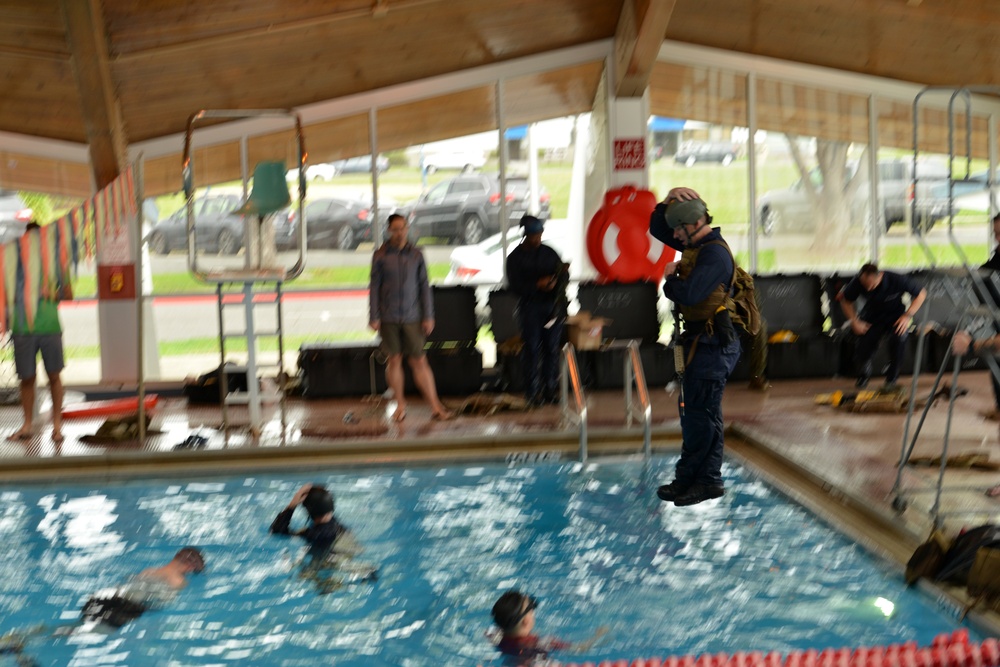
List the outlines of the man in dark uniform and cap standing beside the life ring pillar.
{"type": "Polygon", "coordinates": [[[518,296],[525,394],[534,405],[556,403],[569,270],[559,254],[542,243],[541,220],[526,215],[521,226],[524,238],[507,257],[507,282],[518,296]]]}

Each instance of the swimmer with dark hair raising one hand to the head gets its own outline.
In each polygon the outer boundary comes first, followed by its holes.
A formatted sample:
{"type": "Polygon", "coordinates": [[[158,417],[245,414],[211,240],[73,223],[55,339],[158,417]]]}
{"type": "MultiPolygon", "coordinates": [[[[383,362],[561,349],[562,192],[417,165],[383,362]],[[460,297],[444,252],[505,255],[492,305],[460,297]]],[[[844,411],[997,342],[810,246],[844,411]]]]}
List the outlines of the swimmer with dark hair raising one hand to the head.
{"type": "Polygon", "coordinates": [[[354,560],[362,547],[354,534],[333,515],[333,494],[319,484],[305,484],[292,496],[288,506],[271,522],[271,533],[296,535],[309,544],[310,562],[302,576],[316,582],[321,593],[331,593],[344,583],[375,581],[378,569],[369,563],[354,560]],[[291,530],[292,515],[301,505],[309,514],[309,526],[291,530]],[[330,577],[325,571],[336,570],[347,577],[330,577]]]}

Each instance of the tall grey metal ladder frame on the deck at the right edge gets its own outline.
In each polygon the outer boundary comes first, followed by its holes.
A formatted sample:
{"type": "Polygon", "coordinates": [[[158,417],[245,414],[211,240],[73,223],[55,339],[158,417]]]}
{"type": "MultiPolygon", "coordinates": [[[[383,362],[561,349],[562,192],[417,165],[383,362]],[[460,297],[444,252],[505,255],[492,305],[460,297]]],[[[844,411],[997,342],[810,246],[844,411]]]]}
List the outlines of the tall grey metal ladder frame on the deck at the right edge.
{"type": "MultiPolygon", "coordinates": [[[[933,386],[930,393],[927,396],[926,404],[920,415],[920,418],[913,429],[912,437],[910,434],[911,422],[914,416],[914,408],[916,405],[916,395],[917,395],[917,379],[920,375],[920,367],[922,364],[923,347],[926,335],[928,333],[928,322],[927,313],[923,313],[920,318],[919,326],[919,337],[917,339],[917,356],[913,371],[913,378],[911,382],[910,390],[910,400],[907,407],[906,421],[903,428],[903,438],[900,451],[899,465],[896,473],[896,480],[892,488],[892,506],[899,512],[905,511],[908,507],[908,501],[906,499],[906,494],[917,494],[917,493],[928,493],[933,492],[934,503],[931,507],[931,517],[933,520],[934,528],[940,528],[943,524],[944,517],[950,514],[967,514],[967,512],[943,512],[941,510],[941,496],[946,490],[944,486],[945,471],[947,469],[948,462],[948,447],[951,436],[951,422],[954,413],[955,399],[958,397],[958,377],[962,369],[962,359],[955,357],[952,353],[952,342],[954,341],[955,333],[962,330],[968,330],[973,332],[982,332],[984,330],[996,335],[1000,333],[1000,305],[997,303],[997,296],[1000,295],[1000,277],[998,277],[997,272],[991,272],[987,276],[980,274],[979,269],[973,267],[969,264],[968,257],[966,256],[964,250],[961,247],[958,239],[954,233],[954,219],[955,219],[955,197],[954,197],[954,162],[955,162],[955,103],[956,101],[961,101],[964,103],[962,115],[966,121],[965,127],[965,176],[964,179],[969,178],[969,171],[971,168],[972,160],[972,107],[971,107],[971,96],[973,93],[992,93],[1000,94],[1000,87],[997,86],[978,86],[978,87],[966,87],[966,88],[945,88],[945,87],[928,87],[920,91],[916,95],[913,101],[913,192],[914,198],[911,200],[911,215],[913,219],[916,219],[918,201],[920,189],[917,187],[917,182],[919,176],[917,175],[917,162],[919,158],[919,128],[920,128],[920,102],[922,98],[927,94],[932,93],[949,93],[948,100],[948,241],[951,246],[952,251],[961,261],[961,268],[954,271],[940,271],[938,270],[937,276],[940,279],[940,286],[943,287],[947,296],[954,303],[955,307],[959,309],[961,315],[956,323],[955,330],[951,332],[951,336],[948,340],[948,348],[946,354],[942,357],[941,366],[937,371],[935,376],[933,386]],[[951,391],[948,397],[948,414],[945,421],[945,431],[944,438],[941,447],[941,466],[938,473],[937,482],[934,488],[922,488],[922,489],[909,489],[903,488],[903,471],[906,468],[907,463],[910,460],[910,456],[913,453],[913,449],[916,446],[917,439],[920,436],[920,431],[924,425],[927,418],[927,414],[930,410],[931,403],[938,393],[938,389],[941,385],[941,381],[944,377],[945,371],[951,366],[951,391]]],[[[992,139],[991,139],[992,141],[992,139]]],[[[986,186],[990,193],[991,209],[995,206],[995,200],[993,197],[994,186],[993,175],[995,173],[995,147],[990,147],[990,167],[989,174],[987,176],[986,186]]],[[[992,219],[995,211],[991,210],[990,219],[992,219]]],[[[920,245],[921,250],[927,257],[928,262],[933,269],[937,264],[937,258],[935,257],[933,249],[928,245],[926,239],[924,238],[924,228],[923,225],[917,225],[915,228],[915,235],[917,243],[920,245]]],[[[926,310],[926,309],[925,309],[926,310]]],[[[983,356],[986,365],[989,367],[990,372],[993,377],[1000,381],[1000,366],[997,364],[997,360],[991,355],[983,356]]],[[[949,491],[965,491],[968,488],[959,487],[949,487],[949,491]]],[[[978,489],[976,489],[978,490],[978,489]]]]}

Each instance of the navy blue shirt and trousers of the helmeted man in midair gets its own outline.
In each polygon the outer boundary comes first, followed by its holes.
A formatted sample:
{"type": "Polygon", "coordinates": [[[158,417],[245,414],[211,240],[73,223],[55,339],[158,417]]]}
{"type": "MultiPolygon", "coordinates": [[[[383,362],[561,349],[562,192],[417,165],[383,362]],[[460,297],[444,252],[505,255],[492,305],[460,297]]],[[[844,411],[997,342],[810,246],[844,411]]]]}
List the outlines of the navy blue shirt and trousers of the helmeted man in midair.
{"type": "MultiPolygon", "coordinates": [[[[684,250],[684,244],[674,238],[673,230],[667,226],[663,216],[653,216],[649,232],[671,248],[684,250]]],[[[731,287],[733,260],[729,251],[718,244],[706,245],[709,241],[721,239],[719,229],[714,227],[692,246],[701,248],[694,268],[685,280],[667,276],[663,293],[668,299],[682,306],[695,306],[705,301],[719,285],[731,287]]],[[[740,358],[739,336],[723,344],[715,333],[708,335],[692,323],[685,323],[681,340],[687,362],[684,368],[684,405],[681,406],[684,442],[674,481],[682,486],[722,486],[722,393],[726,388],[726,379],[740,358]],[[692,345],[695,351],[690,357],[692,345]]]]}

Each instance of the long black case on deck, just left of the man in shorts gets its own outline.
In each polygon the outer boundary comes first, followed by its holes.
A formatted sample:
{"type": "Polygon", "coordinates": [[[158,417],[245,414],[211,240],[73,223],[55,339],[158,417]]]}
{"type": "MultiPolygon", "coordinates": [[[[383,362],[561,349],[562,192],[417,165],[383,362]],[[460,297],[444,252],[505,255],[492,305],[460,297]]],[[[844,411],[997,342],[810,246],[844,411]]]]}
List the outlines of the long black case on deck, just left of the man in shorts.
{"type": "MultiPolygon", "coordinates": [[[[366,396],[372,393],[371,363],[375,364],[375,393],[385,391],[385,365],[372,360],[374,344],[310,343],[299,348],[304,398],[366,396]]],[[[404,365],[406,362],[403,362],[404,365]]]]}

